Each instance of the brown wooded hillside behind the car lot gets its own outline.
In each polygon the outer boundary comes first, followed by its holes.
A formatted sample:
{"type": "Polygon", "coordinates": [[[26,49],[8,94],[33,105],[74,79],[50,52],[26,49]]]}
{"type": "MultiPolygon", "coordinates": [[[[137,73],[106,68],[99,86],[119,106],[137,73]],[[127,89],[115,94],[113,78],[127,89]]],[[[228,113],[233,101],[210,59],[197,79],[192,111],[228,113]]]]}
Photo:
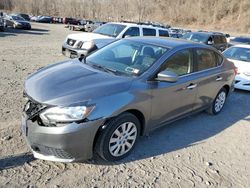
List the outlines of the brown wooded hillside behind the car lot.
{"type": "Polygon", "coordinates": [[[106,21],[153,20],[250,34],[249,0],[0,0],[0,9],[106,21]]]}

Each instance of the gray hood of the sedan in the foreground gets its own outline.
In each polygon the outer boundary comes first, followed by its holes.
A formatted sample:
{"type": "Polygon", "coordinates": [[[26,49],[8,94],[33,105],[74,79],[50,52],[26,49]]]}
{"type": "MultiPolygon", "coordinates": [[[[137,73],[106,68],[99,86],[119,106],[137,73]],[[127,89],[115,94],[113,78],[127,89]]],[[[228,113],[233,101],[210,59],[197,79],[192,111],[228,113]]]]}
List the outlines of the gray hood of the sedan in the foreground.
{"type": "Polygon", "coordinates": [[[128,90],[132,78],[115,76],[83,64],[78,59],[42,68],[30,75],[25,93],[49,105],[71,105],[128,90]]]}

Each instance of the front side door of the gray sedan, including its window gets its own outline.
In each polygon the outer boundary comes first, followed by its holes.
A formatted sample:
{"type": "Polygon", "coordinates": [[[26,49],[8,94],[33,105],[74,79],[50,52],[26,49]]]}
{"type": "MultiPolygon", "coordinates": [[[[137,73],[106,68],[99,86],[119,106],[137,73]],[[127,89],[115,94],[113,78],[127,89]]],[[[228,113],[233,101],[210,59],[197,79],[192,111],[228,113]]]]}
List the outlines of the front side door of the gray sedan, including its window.
{"type": "Polygon", "coordinates": [[[192,76],[192,50],[185,49],[176,52],[164,62],[160,71],[163,70],[176,73],[179,79],[175,83],[163,81],[151,83],[151,120],[154,126],[152,128],[191,112],[197,93],[197,83],[192,76]]]}

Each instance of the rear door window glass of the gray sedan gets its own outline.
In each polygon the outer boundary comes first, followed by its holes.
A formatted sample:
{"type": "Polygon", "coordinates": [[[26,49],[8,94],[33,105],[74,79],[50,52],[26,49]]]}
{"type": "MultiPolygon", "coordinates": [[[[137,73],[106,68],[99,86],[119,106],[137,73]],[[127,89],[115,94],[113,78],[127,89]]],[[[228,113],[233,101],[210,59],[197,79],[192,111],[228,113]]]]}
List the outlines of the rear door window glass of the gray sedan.
{"type": "Polygon", "coordinates": [[[207,49],[197,49],[196,51],[196,71],[203,71],[217,66],[215,53],[207,49]]]}

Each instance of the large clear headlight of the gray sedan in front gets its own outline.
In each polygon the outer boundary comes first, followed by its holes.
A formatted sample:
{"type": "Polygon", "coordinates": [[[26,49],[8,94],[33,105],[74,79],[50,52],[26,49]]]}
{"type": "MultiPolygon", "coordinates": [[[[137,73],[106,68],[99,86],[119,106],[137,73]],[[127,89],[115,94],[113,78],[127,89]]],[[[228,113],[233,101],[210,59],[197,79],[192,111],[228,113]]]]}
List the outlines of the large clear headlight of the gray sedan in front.
{"type": "Polygon", "coordinates": [[[80,121],[93,109],[94,106],[52,107],[42,112],[40,118],[45,125],[80,121]]]}

